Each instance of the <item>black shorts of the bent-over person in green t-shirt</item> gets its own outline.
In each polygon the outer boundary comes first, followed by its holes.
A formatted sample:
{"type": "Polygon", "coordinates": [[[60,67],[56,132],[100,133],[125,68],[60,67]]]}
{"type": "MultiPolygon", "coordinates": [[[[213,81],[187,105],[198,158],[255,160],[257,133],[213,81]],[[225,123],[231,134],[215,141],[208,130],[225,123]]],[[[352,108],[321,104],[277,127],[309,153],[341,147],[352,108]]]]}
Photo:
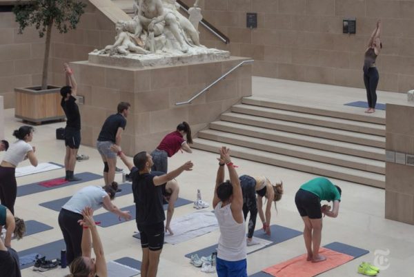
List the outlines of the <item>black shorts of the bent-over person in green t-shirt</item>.
{"type": "Polygon", "coordinates": [[[322,218],[321,200],[316,194],[299,189],[295,196],[295,203],[300,216],[311,219],[322,218]]]}

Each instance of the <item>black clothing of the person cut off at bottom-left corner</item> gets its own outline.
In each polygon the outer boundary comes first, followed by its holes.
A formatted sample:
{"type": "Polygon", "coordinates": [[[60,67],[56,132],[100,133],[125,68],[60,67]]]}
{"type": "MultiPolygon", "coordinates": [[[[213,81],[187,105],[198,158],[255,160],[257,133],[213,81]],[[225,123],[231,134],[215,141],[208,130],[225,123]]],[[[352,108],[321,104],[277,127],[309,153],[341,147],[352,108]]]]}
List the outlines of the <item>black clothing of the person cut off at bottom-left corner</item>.
{"type": "Polygon", "coordinates": [[[21,277],[19,255],[0,239],[0,276],[21,277]]]}

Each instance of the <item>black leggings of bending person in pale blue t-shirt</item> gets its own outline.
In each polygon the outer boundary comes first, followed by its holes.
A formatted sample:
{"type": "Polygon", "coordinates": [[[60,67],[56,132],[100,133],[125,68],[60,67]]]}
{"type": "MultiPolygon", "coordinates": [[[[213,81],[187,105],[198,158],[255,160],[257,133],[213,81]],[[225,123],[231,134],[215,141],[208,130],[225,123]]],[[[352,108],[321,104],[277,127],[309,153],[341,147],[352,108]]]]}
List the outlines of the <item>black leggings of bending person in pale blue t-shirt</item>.
{"type": "Polygon", "coordinates": [[[59,227],[63,233],[63,239],[66,244],[66,260],[68,265],[72,260],[82,256],[82,233],[83,229],[79,225],[78,220],[83,216],[75,212],[70,212],[67,209],[61,209],[59,213],[59,227]]]}

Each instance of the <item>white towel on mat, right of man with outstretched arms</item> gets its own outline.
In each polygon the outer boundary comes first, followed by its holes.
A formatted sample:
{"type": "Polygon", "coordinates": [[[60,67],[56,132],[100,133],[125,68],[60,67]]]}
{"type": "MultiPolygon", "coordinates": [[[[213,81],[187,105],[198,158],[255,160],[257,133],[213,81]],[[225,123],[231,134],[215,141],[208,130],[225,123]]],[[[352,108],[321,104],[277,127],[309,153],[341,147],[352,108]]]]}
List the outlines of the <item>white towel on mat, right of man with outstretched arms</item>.
{"type": "Polygon", "coordinates": [[[211,211],[198,211],[172,219],[170,227],[174,235],[166,234],[164,240],[176,245],[214,231],[219,227],[219,223],[211,211]]]}

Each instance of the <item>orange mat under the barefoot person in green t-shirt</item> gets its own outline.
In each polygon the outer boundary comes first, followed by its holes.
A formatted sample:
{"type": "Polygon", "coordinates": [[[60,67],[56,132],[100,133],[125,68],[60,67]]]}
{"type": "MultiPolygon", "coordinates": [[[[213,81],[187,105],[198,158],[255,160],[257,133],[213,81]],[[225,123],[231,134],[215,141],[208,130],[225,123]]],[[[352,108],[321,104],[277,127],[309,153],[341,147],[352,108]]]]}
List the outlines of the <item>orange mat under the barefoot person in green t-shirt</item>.
{"type": "Polygon", "coordinates": [[[307,261],[307,255],[297,256],[290,260],[286,260],[284,263],[273,265],[263,271],[276,277],[313,277],[317,274],[321,274],[329,269],[343,265],[350,260],[353,260],[353,256],[335,252],[331,249],[321,247],[319,253],[326,256],[326,260],[320,263],[312,263],[307,261]]]}

